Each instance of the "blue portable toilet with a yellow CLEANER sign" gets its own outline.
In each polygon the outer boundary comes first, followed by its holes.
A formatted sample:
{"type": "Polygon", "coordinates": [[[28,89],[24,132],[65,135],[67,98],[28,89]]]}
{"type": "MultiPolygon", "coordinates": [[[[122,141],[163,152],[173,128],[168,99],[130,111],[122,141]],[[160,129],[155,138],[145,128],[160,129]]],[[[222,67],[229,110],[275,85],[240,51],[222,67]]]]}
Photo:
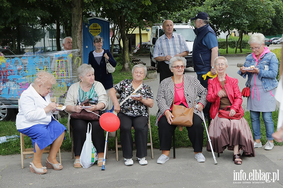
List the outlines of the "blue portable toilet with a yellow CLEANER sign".
{"type": "Polygon", "coordinates": [[[103,46],[105,50],[110,49],[110,27],[109,22],[104,18],[87,18],[89,24],[83,24],[83,63],[88,63],[88,54],[95,50],[93,45],[94,36],[103,38],[103,46]]]}

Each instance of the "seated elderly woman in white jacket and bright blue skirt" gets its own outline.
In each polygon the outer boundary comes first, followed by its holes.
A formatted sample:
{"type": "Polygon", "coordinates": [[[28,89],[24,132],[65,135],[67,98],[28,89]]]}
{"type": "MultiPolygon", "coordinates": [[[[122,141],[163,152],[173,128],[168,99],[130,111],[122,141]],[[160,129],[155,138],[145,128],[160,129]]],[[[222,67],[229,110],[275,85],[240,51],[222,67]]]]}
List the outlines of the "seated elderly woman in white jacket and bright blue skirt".
{"type": "Polygon", "coordinates": [[[16,127],[20,133],[31,138],[34,157],[30,165],[32,173],[45,174],[46,167],[41,164],[41,156],[45,147],[50,145],[46,159],[47,168],[61,170],[63,166],[56,159],[67,129],[53,118],[57,114],[58,104],[51,102],[49,92],[56,83],[55,77],[44,71],[36,74],[34,83],[26,89],[19,99],[19,113],[16,127]]]}

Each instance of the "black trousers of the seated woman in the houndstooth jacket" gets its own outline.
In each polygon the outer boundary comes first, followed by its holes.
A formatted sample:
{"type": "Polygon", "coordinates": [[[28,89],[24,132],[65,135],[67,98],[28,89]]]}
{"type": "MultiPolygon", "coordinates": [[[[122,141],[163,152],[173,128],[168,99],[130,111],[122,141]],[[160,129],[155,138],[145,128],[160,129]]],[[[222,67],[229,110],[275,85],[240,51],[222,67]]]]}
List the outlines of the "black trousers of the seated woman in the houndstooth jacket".
{"type": "MultiPolygon", "coordinates": [[[[162,116],[158,121],[158,136],[160,143],[160,150],[170,150],[172,143],[172,136],[176,129],[176,125],[170,125],[167,122],[166,116],[162,116]]],[[[203,151],[203,124],[202,119],[193,114],[193,125],[186,127],[188,136],[194,148],[194,152],[203,151]]]]}

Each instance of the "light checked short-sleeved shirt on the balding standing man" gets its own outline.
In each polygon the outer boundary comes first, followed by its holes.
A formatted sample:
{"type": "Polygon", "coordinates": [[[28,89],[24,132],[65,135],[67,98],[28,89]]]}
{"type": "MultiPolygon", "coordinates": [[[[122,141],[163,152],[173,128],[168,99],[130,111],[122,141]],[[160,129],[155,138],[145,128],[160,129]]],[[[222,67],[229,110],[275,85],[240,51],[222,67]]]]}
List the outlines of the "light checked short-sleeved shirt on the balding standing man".
{"type": "MultiPolygon", "coordinates": [[[[159,56],[165,57],[166,55],[174,57],[176,54],[180,54],[185,51],[190,52],[186,40],[182,35],[178,33],[172,33],[171,39],[168,39],[164,34],[159,37],[155,43],[153,58],[159,56]]],[[[169,61],[164,62],[169,64],[169,61]]]]}

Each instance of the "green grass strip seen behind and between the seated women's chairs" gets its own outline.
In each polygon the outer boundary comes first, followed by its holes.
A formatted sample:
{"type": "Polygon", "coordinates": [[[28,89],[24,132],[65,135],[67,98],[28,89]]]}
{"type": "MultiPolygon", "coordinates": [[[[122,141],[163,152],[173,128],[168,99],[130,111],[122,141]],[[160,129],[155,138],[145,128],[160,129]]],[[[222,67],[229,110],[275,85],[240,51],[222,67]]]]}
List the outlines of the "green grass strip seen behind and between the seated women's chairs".
{"type": "MultiPolygon", "coordinates": [[[[247,119],[247,122],[249,123],[250,128],[252,130],[250,113],[248,111],[245,112],[244,118],[247,119]]],[[[276,130],[278,110],[276,110],[275,112],[272,112],[272,118],[274,122],[274,129],[276,130]]],[[[159,146],[159,139],[158,139],[158,129],[157,129],[157,126],[154,126],[155,120],[156,120],[156,116],[150,115],[153,147],[159,148],[160,146],[159,146]]],[[[262,117],[260,117],[260,121],[261,121],[261,133],[262,133],[261,142],[262,144],[265,144],[266,135],[265,135],[265,127],[264,127],[264,122],[263,122],[262,117]]],[[[59,119],[59,122],[66,126],[67,118],[61,118],[59,119]]],[[[6,136],[6,135],[13,135],[13,134],[19,135],[19,132],[16,129],[15,122],[1,121],[0,122],[0,137],[6,136]]],[[[65,137],[66,137],[66,140],[63,141],[61,150],[71,151],[71,142],[69,140],[69,132],[66,133],[65,137]]],[[[134,130],[132,130],[132,137],[134,138],[134,130]]],[[[205,129],[204,129],[203,137],[204,137],[203,146],[206,146],[207,145],[207,134],[206,134],[205,129]]],[[[176,148],[191,146],[191,142],[188,138],[188,133],[187,133],[186,128],[183,128],[183,131],[179,131],[179,128],[177,127],[175,130],[175,138],[176,138],[176,143],[175,143],[176,148]]],[[[119,140],[119,131],[118,131],[118,140],[119,140]]],[[[283,145],[282,143],[277,143],[276,141],[274,142],[274,144],[283,145]]],[[[28,148],[32,148],[31,139],[29,137],[25,137],[25,145],[28,148]]],[[[115,149],[115,138],[109,139],[108,148],[113,149],[113,150],[115,149]]],[[[11,154],[19,154],[19,153],[20,153],[20,139],[0,144],[0,155],[11,155],[11,154]]]]}

